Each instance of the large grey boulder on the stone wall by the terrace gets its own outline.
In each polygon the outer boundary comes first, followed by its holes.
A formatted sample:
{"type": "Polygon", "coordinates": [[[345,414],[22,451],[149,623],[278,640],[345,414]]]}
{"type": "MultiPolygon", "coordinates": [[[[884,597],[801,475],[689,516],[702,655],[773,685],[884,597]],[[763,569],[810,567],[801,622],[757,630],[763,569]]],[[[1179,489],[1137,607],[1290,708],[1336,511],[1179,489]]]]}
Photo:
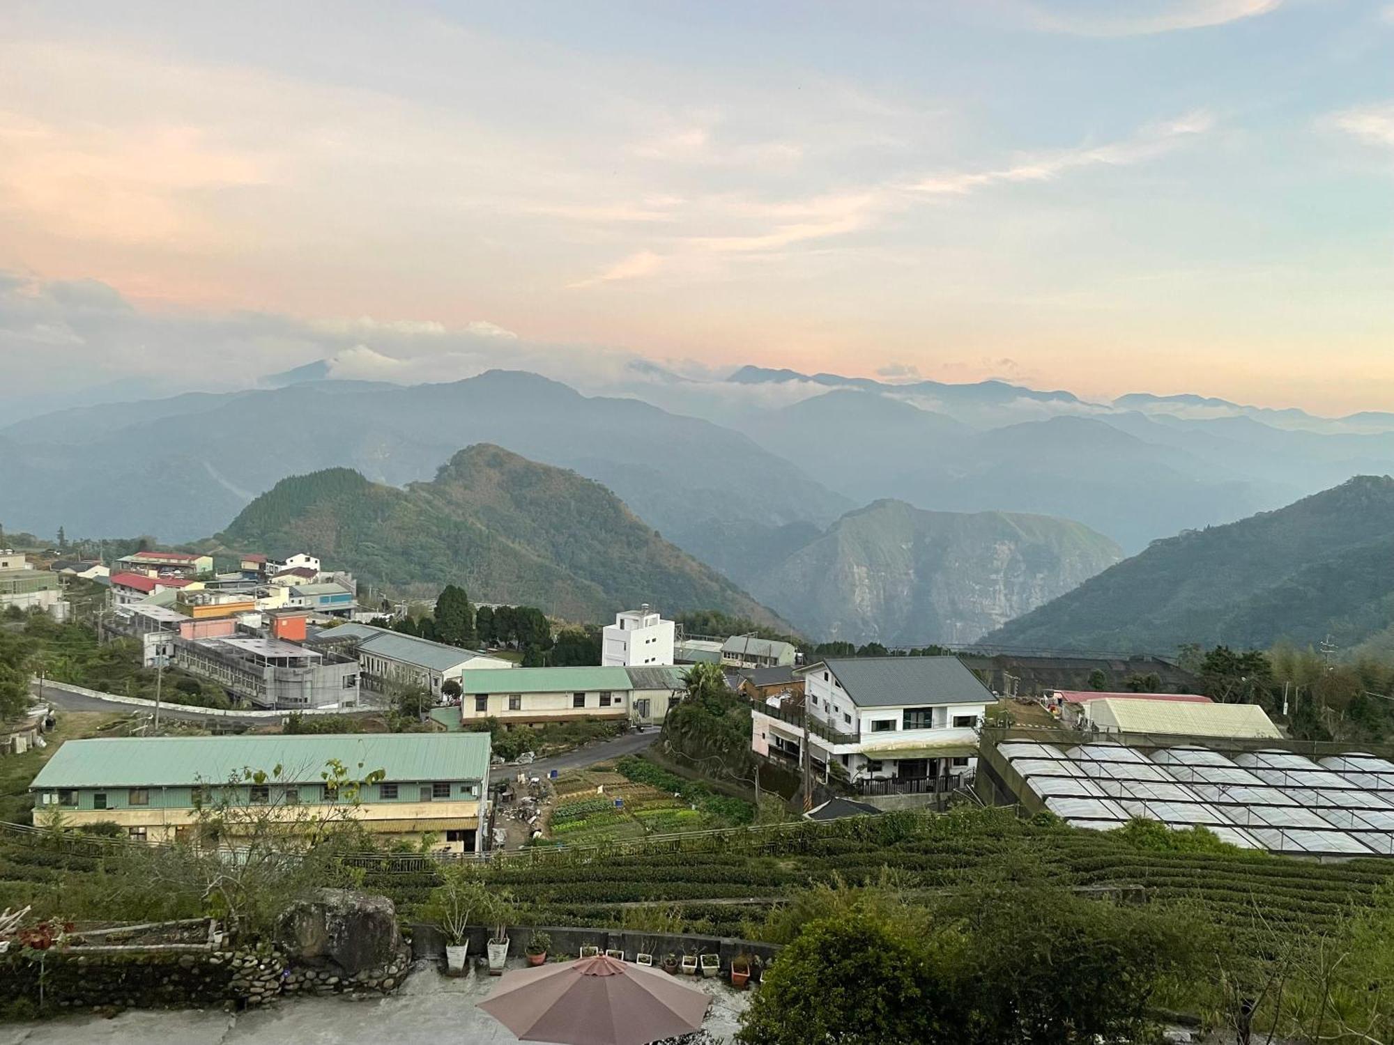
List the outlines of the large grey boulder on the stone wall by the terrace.
{"type": "Polygon", "coordinates": [[[279,942],[291,961],[335,964],[348,975],[406,953],[392,900],[353,889],[316,889],[293,904],[280,918],[279,942]]]}

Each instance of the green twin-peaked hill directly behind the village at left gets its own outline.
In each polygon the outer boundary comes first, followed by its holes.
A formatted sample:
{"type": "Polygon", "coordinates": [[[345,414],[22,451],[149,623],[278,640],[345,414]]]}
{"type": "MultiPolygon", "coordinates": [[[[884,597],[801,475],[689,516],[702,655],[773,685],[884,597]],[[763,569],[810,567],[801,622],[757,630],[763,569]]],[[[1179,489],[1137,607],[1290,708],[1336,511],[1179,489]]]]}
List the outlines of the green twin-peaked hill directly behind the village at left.
{"type": "Polygon", "coordinates": [[[348,468],[282,479],[213,541],[272,555],[314,548],[365,581],[420,592],[449,581],[570,620],[608,621],[647,602],[783,624],[598,482],[498,446],[460,450],[404,490],[348,468]]]}

